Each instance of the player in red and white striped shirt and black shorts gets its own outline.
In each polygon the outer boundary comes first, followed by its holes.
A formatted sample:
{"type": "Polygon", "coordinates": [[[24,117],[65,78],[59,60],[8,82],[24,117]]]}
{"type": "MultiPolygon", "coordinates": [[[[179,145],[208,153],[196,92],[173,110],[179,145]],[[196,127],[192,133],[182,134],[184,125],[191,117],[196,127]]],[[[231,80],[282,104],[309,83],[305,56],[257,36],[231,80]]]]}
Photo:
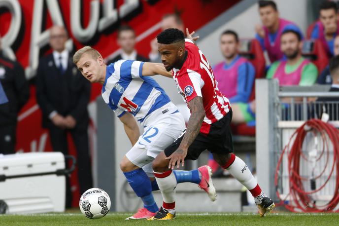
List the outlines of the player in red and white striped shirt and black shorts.
{"type": "MultiPolygon", "coordinates": [[[[187,34],[189,34],[187,30],[187,34]]],[[[192,37],[189,37],[192,38],[192,37]]],[[[159,52],[167,71],[172,70],[180,94],[191,111],[186,130],[153,161],[153,170],[163,195],[163,206],[149,220],[175,218],[175,165],[184,160],[196,160],[208,150],[214,159],[227,169],[252,193],[261,216],[274,207],[266,197],[246,164],[233,154],[230,129],[232,109],[229,100],[217,88],[211,66],[203,52],[178,29],[167,29],[158,36],[159,52]]],[[[207,188],[208,182],[207,183],[207,188]]]]}

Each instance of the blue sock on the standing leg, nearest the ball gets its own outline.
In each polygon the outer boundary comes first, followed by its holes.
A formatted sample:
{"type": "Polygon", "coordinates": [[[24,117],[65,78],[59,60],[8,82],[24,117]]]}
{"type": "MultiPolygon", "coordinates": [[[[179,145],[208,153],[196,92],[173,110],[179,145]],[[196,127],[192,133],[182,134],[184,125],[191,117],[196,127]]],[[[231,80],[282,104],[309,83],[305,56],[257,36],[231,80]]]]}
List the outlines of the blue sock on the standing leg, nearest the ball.
{"type": "Polygon", "coordinates": [[[124,175],[136,195],[141,198],[143,206],[152,213],[157,212],[159,207],[154,201],[151,181],[146,173],[142,169],[136,169],[125,172],[124,175]]]}

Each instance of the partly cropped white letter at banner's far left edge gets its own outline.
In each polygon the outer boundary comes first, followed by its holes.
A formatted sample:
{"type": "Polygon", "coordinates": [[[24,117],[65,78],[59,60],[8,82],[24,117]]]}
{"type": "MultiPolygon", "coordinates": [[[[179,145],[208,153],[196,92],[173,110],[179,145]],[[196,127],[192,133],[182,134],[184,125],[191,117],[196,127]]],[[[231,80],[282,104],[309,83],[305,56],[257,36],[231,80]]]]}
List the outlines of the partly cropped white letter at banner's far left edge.
{"type": "Polygon", "coordinates": [[[21,9],[18,0],[0,0],[0,7],[5,7],[11,14],[11,23],[7,33],[1,38],[2,51],[8,58],[15,60],[11,45],[16,40],[21,27],[21,9]]]}

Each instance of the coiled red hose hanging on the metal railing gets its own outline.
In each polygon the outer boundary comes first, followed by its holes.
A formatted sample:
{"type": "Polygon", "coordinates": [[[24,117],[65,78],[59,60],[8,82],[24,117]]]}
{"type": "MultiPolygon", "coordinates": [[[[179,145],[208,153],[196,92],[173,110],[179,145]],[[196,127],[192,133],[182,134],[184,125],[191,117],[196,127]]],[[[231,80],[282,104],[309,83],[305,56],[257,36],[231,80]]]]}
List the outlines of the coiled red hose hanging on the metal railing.
{"type": "MultiPolygon", "coordinates": [[[[307,129],[308,130],[308,129],[307,129]]],[[[339,210],[334,210],[336,206],[339,203],[339,130],[337,130],[334,126],[332,126],[329,123],[323,122],[320,119],[310,119],[306,121],[301,127],[299,127],[291,136],[290,141],[288,144],[284,147],[283,151],[281,152],[281,155],[279,157],[275,176],[274,176],[274,184],[275,187],[278,188],[278,178],[279,178],[279,172],[280,172],[280,166],[282,163],[282,159],[284,154],[289,151],[288,153],[288,177],[289,177],[289,200],[290,202],[288,204],[284,204],[284,201],[280,197],[279,190],[276,189],[276,194],[280,200],[280,203],[278,205],[284,205],[286,209],[292,211],[292,212],[304,212],[304,213],[319,213],[319,212],[339,212],[339,210]],[[306,131],[305,126],[310,128],[311,130],[306,131]],[[316,175],[314,179],[319,178],[322,176],[325,172],[325,169],[328,164],[330,164],[329,159],[329,144],[328,139],[326,139],[326,134],[328,135],[329,141],[333,145],[333,163],[331,168],[331,173],[326,179],[325,183],[321,185],[319,188],[311,191],[305,191],[302,181],[308,180],[307,178],[303,178],[300,176],[300,159],[301,157],[308,160],[307,157],[304,155],[302,151],[302,145],[305,139],[305,136],[308,132],[312,132],[314,134],[320,133],[321,138],[323,140],[323,149],[319,155],[319,157],[316,159],[317,161],[327,152],[326,157],[326,163],[324,169],[321,171],[319,175],[316,175]],[[291,145],[292,138],[295,136],[295,140],[291,145]],[[289,149],[291,147],[291,149],[289,149]],[[334,172],[336,166],[336,171],[334,172]],[[310,194],[318,192],[322,188],[326,186],[326,184],[329,182],[331,176],[333,174],[336,174],[336,187],[335,192],[333,195],[333,198],[325,205],[323,206],[316,206],[313,204],[312,199],[310,198],[310,194]],[[294,205],[293,205],[294,204],[294,205]]]]}

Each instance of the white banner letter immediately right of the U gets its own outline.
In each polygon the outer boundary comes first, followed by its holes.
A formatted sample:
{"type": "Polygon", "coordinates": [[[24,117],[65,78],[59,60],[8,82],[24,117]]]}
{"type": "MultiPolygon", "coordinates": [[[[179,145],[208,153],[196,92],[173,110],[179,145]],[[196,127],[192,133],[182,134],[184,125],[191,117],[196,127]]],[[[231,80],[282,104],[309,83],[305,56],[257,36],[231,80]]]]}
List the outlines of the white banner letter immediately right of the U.
{"type": "Polygon", "coordinates": [[[103,17],[99,21],[99,32],[118,21],[118,10],[114,8],[114,1],[103,0],[102,12],[103,17]]]}

